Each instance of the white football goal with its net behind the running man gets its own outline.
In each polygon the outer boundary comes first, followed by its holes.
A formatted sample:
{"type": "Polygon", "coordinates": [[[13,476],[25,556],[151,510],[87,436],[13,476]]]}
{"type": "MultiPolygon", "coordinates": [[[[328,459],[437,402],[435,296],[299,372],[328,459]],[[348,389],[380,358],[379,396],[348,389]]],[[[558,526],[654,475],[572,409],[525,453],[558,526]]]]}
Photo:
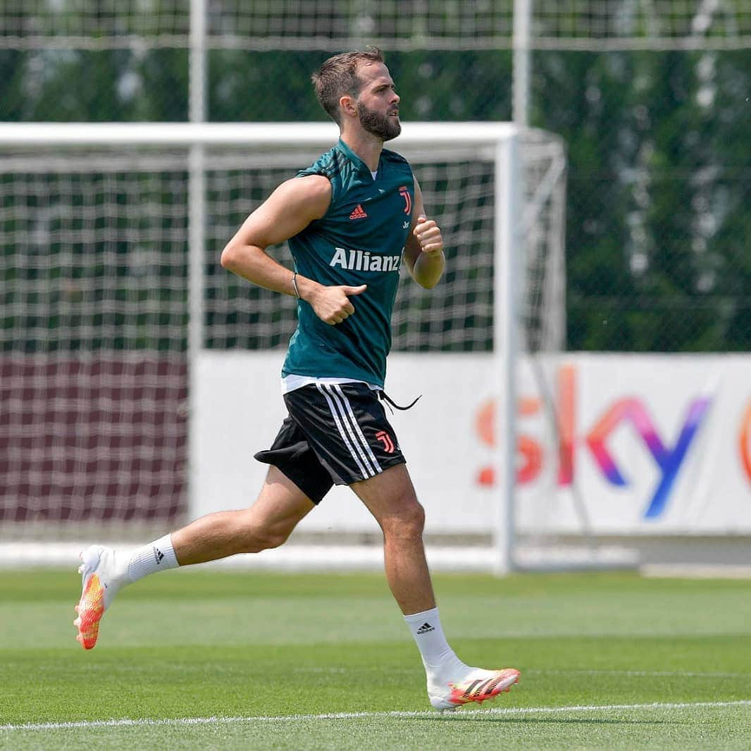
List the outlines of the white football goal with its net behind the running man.
{"type": "MultiPolygon", "coordinates": [[[[80,542],[137,541],[252,500],[294,302],[228,278],[219,251],[337,137],[330,123],[0,124],[0,562],[68,562],[80,542]]],[[[436,384],[396,424],[430,497],[430,561],[508,572],[520,362],[564,342],[565,152],[503,122],[406,123],[388,147],[448,246],[439,288],[402,285],[387,381],[400,396],[421,374],[436,384]],[[483,405],[495,419],[478,439],[465,413],[483,405]]],[[[286,247],[273,255],[291,263],[286,247]]],[[[377,535],[353,509],[322,505],[257,565],[375,565],[377,535]]]]}

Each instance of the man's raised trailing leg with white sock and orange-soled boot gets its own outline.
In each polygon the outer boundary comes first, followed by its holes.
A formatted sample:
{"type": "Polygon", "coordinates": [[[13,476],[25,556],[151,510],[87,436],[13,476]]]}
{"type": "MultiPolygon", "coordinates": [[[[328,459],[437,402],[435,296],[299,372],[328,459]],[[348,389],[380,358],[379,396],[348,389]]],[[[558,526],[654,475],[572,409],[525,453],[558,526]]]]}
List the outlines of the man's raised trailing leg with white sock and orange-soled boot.
{"type": "Polygon", "coordinates": [[[125,585],[176,566],[278,547],[312,508],[315,505],[297,485],[271,466],[250,508],[208,514],[133,553],[92,545],[81,554],[83,591],[74,620],[77,640],[85,649],[95,646],[99,621],[125,585]]]}

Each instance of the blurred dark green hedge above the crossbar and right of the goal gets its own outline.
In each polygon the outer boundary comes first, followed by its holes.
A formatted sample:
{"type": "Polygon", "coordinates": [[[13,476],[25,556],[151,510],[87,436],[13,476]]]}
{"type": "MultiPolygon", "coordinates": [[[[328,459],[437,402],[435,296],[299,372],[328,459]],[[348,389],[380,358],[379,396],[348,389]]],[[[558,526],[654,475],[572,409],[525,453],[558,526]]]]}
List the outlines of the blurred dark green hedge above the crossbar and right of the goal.
{"type": "MultiPolygon", "coordinates": [[[[334,50],[299,46],[215,45],[207,119],[326,119],[309,76],[334,50]]],[[[188,119],[185,47],[15,47],[2,120],[188,119]]],[[[511,119],[508,44],[384,47],[404,120],[511,119]]],[[[567,348],[751,348],[751,44],[732,47],[533,51],[529,123],[569,159],[567,348]]]]}

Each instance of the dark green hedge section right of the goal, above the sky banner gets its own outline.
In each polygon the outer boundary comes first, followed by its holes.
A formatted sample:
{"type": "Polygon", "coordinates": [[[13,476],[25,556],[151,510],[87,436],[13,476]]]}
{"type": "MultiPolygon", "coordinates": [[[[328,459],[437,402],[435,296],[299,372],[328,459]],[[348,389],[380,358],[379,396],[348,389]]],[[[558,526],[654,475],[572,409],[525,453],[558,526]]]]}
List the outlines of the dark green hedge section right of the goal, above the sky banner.
{"type": "Polygon", "coordinates": [[[745,51],[535,56],[532,118],[569,149],[569,348],[747,348],[749,65],[745,51]]]}

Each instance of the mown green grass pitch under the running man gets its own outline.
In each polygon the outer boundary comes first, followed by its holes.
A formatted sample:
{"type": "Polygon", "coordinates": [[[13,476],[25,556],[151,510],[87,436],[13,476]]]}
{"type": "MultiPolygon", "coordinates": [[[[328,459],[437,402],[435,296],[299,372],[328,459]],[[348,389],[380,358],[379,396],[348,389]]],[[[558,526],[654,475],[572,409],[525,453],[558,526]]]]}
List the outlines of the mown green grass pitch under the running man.
{"type": "Polygon", "coordinates": [[[382,575],[183,569],[91,652],[74,572],[0,573],[2,749],[749,749],[751,582],[436,576],[465,662],[522,671],[430,709],[382,575]]]}

